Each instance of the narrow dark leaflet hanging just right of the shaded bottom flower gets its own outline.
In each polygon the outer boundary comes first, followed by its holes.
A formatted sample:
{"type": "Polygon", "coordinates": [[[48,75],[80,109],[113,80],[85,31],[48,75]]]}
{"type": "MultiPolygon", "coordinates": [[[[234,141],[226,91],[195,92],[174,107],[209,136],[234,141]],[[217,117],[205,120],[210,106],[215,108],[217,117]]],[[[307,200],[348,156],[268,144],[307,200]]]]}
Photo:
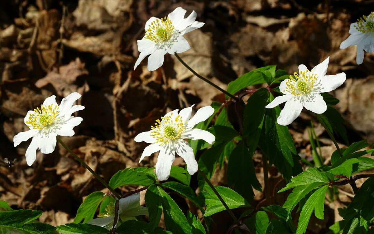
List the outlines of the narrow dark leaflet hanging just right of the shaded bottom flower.
{"type": "Polygon", "coordinates": [[[159,225],[162,214],[162,197],[156,185],[150,185],[145,192],[145,204],[148,208],[149,225],[154,230],[159,225]]]}

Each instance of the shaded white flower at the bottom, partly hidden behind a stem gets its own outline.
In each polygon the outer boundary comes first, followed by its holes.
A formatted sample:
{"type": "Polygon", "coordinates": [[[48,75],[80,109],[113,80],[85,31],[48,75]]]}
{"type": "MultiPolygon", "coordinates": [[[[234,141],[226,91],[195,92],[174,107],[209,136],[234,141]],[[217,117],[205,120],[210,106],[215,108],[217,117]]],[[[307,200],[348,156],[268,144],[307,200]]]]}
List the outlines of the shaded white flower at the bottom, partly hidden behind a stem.
{"type": "MultiPolygon", "coordinates": [[[[113,228],[114,222],[114,204],[111,203],[105,208],[106,213],[100,213],[97,219],[92,219],[87,224],[104,227],[108,230],[113,228]]],[[[148,208],[140,206],[140,193],[132,194],[131,196],[121,198],[119,200],[118,220],[125,222],[131,219],[136,219],[138,215],[148,215],[148,208]]],[[[119,225],[117,220],[116,227],[119,225]]]]}

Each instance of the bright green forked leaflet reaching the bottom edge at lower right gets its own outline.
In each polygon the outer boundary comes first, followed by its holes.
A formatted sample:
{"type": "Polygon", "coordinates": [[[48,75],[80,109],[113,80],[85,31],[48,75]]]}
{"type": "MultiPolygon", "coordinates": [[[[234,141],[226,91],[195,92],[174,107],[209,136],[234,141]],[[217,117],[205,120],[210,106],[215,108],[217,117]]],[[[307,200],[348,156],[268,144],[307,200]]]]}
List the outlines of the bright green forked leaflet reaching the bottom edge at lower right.
{"type": "Polygon", "coordinates": [[[324,204],[325,204],[325,193],[329,185],[324,185],[316,190],[301,209],[299,223],[296,234],[304,234],[309,223],[310,216],[314,210],[314,214],[319,219],[324,219],[324,204]]]}

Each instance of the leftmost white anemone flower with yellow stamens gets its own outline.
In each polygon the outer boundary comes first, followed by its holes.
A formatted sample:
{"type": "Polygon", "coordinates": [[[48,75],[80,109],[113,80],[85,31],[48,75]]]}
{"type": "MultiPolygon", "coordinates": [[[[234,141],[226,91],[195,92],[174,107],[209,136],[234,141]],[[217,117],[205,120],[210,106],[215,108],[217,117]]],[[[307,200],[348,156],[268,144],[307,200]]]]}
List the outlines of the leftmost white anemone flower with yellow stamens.
{"type": "Polygon", "coordinates": [[[53,95],[45,99],[40,108],[27,112],[24,121],[30,130],[15,135],[13,142],[16,147],[22,141],[33,138],[25,154],[28,166],[34,163],[37,149],[43,154],[50,154],[55,150],[57,135],[74,135],[73,127],[79,125],[83,118],[73,117],[71,114],[85,108],[81,105],[73,106],[81,96],[79,93],[71,93],[57,105],[56,96],[53,95]]]}

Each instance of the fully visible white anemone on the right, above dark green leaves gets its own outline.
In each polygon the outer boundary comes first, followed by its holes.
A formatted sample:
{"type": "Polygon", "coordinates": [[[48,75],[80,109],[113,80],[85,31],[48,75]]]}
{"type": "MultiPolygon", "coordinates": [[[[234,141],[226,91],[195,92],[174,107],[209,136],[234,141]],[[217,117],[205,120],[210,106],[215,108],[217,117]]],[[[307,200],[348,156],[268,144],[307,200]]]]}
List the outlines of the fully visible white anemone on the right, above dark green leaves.
{"type": "Polygon", "coordinates": [[[286,102],[277,119],[278,124],[288,125],[301,113],[303,107],[316,114],[322,114],[327,110],[326,102],[319,93],[330,92],[341,86],[346,80],[345,73],[326,76],[329,57],[315,66],[311,71],[303,64],[299,66],[299,73],[295,77],[282,81],[279,90],[285,94],[276,97],[266,108],[273,108],[286,102]]]}

